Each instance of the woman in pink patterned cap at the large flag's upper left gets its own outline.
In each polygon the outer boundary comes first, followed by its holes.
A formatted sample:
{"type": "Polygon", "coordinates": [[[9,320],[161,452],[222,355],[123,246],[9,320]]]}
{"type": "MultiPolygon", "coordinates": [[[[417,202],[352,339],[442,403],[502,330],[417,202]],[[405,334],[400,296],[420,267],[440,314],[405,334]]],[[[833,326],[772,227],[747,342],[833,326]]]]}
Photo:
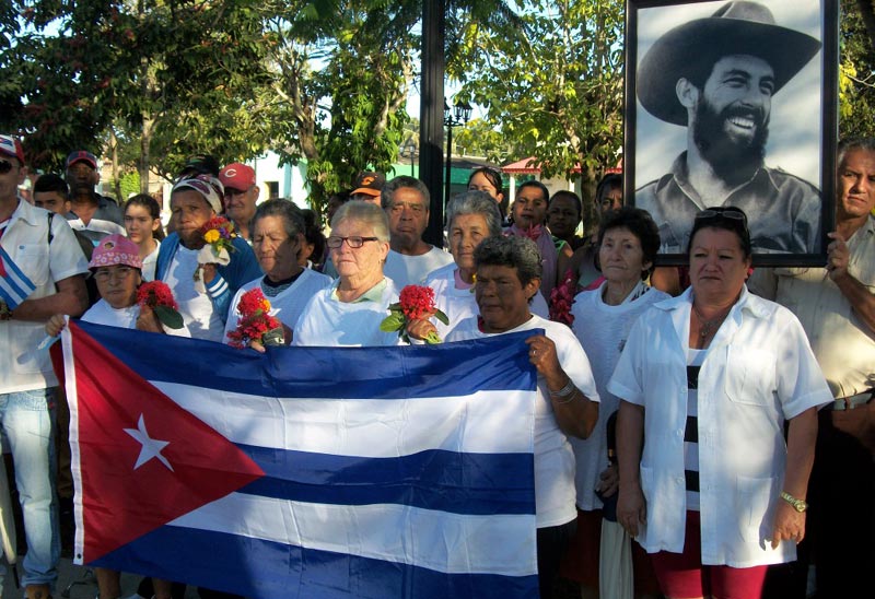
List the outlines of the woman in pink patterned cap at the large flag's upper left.
{"type": "MultiPolygon", "coordinates": [[[[94,248],[89,269],[97,283],[101,300],[82,315],[84,322],[189,337],[185,328],[174,329],[167,326],[165,329],[159,319],[160,308],[150,307],[145,301],[143,305],[138,303],[138,287],[142,282],[142,260],[139,248],[133,242],[118,234],[104,237],[94,248]]],[[[156,291],[163,300],[161,305],[170,308],[173,295],[163,283],[158,285],[162,285],[156,291]]],[[[65,317],[57,314],[46,324],[46,332],[55,337],[63,327],[65,317]]],[[[98,597],[115,599],[121,596],[118,572],[102,567],[96,567],[94,571],[100,589],[98,597]]]]}

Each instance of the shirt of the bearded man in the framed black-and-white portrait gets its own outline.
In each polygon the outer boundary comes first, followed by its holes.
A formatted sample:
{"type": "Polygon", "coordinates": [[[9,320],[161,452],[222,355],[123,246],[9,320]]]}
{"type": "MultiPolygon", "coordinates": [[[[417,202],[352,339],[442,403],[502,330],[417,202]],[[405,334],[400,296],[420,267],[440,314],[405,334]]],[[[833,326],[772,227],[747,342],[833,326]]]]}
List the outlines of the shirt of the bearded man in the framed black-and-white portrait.
{"type": "MultiPolygon", "coordinates": [[[[660,228],[660,251],[665,254],[685,252],[696,213],[715,204],[690,185],[686,152],[675,160],[668,174],[635,191],[635,208],[653,216],[660,228]]],[[[756,252],[820,251],[820,191],[804,179],[761,166],[721,205],[745,211],[756,252]]]]}

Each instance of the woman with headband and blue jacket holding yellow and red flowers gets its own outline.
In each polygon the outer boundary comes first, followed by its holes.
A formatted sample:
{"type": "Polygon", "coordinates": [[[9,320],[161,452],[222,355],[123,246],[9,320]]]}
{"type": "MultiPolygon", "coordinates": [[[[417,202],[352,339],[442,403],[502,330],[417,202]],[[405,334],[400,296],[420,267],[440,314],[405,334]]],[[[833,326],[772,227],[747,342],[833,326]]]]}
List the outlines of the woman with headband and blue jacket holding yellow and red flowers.
{"type": "Polygon", "coordinates": [[[231,233],[228,221],[217,219],[222,210],[221,187],[209,175],[180,179],[173,186],[175,231],[162,242],[155,268],[155,280],[173,290],[191,337],[210,341],[222,340],[237,290],[261,275],[249,245],[231,233]],[[201,249],[213,249],[214,257],[205,259],[201,249]]]}

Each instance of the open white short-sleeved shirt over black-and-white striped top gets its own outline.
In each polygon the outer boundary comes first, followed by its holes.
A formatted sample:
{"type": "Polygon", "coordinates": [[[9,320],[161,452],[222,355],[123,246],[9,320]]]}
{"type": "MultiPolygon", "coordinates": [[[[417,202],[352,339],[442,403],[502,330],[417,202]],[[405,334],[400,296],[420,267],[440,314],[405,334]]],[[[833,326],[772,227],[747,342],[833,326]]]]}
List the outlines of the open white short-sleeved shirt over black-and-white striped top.
{"type": "MultiPolygon", "coordinates": [[[[637,540],[649,553],[684,550],[691,305],[689,289],[641,315],[608,383],[644,407],[648,521],[637,540]]],[[[794,543],[767,541],[786,466],[784,422],[832,400],[796,317],[743,289],[708,347],[697,399],[702,563],[793,561],[794,543]]]]}

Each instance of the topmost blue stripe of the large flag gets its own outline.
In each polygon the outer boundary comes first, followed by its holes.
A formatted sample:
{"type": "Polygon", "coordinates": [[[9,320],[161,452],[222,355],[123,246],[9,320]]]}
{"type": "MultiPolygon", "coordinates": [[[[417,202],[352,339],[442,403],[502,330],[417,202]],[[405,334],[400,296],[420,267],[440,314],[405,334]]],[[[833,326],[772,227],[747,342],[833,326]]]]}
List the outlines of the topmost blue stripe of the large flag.
{"type": "Polygon", "coordinates": [[[197,381],[201,387],[254,396],[330,399],[534,390],[536,373],[527,351],[521,348],[525,349],[526,339],[542,332],[537,329],[501,336],[499,341],[491,338],[428,348],[268,348],[266,365],[255,351],[212,341],[165,336],[162,351],[156,352],[152,333],[90,322],[79,326],[147,380],[197,381]],[[205,355],[210,359],[203,360],[205,355]],[[471,377],[471,372],[478,376],[471,377]]]}

